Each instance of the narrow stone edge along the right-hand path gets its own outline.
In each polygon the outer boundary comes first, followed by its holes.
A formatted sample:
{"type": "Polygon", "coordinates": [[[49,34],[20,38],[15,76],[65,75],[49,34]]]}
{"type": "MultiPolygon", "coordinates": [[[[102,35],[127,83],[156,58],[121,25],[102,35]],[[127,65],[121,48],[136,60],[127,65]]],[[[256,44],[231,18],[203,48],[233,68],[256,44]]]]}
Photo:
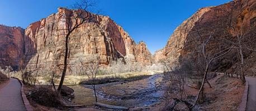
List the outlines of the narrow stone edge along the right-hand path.
{"type": "Polygon", "coordinates": [[[244,94],[243,97],[241,98],[241,103],[239,104],[238,111],[245,111],[246,110],[246,104],[247,104],[247,98],[248,98],[248,82],[245,84],[244,88],[244,94]]]}

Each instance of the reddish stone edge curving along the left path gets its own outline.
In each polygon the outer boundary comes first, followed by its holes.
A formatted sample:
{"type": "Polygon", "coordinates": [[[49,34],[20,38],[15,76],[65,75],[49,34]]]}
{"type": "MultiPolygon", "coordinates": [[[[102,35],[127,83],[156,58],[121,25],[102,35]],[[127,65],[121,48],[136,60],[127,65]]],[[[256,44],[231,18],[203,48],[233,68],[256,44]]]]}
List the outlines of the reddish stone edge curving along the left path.
{"type": "MultiPolygon", "coordinates": [[[[18,79],[18,78],[15,78],[15,77],[12,77],[12,78],[18,79]]],[[[20,82],[20,84],[21,84],[21,97],[22,97],[22,101],[23,101],[23,103],[25,105],[26,110],[27,111],[34,111],[32,106],[29,103],[29,100],[27,100],[26,94],[24,92],[24,84],[21,82],[20,79],[18,79],[18,82],[20,82]]]]}

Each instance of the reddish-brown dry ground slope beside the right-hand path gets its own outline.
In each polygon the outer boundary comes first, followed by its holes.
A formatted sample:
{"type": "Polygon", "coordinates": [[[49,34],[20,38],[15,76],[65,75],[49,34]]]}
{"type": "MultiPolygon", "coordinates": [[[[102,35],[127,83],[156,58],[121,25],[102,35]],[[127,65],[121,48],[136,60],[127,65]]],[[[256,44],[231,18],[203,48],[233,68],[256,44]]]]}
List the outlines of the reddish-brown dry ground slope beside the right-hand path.
{"type": "Polygon", "coordinates": [[[206,89],[204,110],[237,110],[244,92],[244,85],[239,79],[219,75],[210,80],[214,88],[206,89]]]}

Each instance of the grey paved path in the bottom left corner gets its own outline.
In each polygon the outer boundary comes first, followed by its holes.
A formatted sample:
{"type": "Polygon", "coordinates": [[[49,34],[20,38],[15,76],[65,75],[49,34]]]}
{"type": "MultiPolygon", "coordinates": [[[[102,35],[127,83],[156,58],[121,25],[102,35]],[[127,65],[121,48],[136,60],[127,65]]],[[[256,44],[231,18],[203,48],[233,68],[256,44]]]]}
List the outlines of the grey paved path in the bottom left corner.
{"type": "Polygon", "coordinates": [[[10,78],[10,82],[0,89],[0,110],[26,110],[21,98],[21,84],[17,79],[10,78]]]}

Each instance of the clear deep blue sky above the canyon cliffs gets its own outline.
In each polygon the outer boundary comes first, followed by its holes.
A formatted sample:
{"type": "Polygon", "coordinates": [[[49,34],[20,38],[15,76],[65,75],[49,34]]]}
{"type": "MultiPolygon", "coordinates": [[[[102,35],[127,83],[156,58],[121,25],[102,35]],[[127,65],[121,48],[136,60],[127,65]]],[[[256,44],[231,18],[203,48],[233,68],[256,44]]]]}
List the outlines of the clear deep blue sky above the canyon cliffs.
{"type": "MultiPolygon", "coordinates": [[[[231,0],[98,0],[98,8],[122,26],[136,42],[144,41],[153,54],[165,46],[174,29],[198,9],[231,0]]],[[[70,7],[73,0],[0,0],[0,24],[26,28],[70,7]]]]}

